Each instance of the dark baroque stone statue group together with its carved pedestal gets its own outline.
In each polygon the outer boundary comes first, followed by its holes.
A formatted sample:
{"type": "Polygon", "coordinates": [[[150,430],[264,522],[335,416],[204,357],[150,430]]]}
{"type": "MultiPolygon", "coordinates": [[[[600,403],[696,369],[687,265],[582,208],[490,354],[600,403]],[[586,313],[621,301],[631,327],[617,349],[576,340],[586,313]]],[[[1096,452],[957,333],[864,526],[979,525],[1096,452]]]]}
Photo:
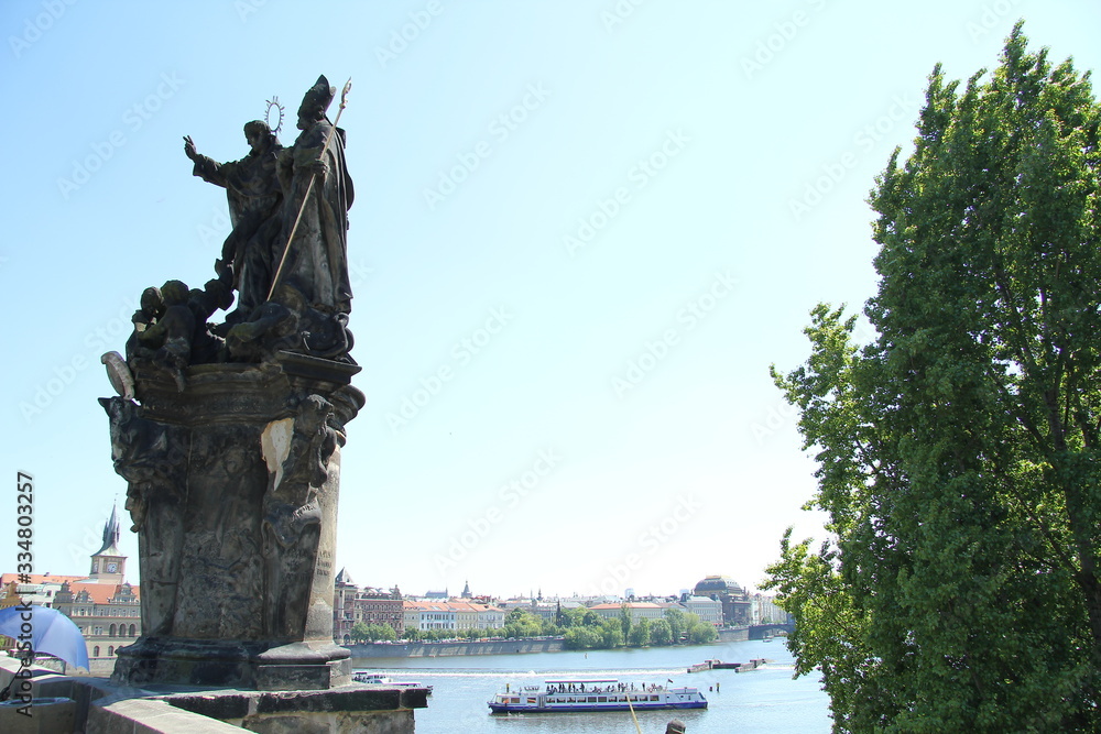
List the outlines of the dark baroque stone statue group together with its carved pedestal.
{"type": "Polygon", "coordinates": [[[326,117],[334,94],[324,76],[309,88],[288,149],[259,121],[236,162],[185,136],[193,173],[226,188],[233,230],[215,278],[146,288],[126,357],[103,357],[142,576],[143,634],[119,653],[120,682],[350,680],[333,643],[334,555],[340,449],[364,397],[351,386],[352,185],[345,132],[326,117]]]}

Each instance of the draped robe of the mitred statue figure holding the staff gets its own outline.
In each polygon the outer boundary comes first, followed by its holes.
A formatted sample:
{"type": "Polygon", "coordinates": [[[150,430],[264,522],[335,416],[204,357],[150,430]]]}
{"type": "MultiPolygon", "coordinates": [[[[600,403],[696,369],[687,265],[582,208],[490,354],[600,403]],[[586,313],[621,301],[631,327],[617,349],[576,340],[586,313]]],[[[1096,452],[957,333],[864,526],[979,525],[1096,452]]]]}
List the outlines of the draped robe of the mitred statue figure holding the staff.
{"type": "Polygon", "coordinates": [[[348,209],[355,193],[345,164],[345,132],[337,128],[326,150],[330,130],[328,119],[313,122],[280,157],[283,237],[291,233],[302,209],[280,283],[297,288],[306,306],[326,314],[349,314],[348,209]],[[325,163],[324,175],[315,173],[319,161],[325,163]],[[310,178],[314,184],[303,207],[310,178]]]}

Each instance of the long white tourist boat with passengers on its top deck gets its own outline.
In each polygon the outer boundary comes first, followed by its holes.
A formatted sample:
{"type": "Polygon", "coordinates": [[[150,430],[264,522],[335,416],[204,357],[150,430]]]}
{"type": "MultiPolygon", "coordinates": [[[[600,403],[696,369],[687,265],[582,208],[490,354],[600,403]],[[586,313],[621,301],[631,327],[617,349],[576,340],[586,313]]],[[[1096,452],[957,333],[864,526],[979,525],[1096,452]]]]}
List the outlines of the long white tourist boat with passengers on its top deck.
{"type": "Polygon", "coordinates": [[[543,686],[509,686],[488,703],[491,713],[707,708],[707,699],[697,688],[621,683],[614,678],[563,678],[543,686]]]}

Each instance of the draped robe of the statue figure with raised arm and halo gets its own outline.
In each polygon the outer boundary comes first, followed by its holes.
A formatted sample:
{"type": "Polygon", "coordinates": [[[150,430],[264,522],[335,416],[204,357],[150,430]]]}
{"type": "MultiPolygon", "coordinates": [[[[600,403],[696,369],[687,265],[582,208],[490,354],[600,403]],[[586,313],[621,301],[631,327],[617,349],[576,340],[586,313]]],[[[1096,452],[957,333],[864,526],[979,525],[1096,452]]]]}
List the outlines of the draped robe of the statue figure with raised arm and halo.
{"type": "Polygon", "coordinates": [[[222,261],[232,263],[233,287],[238,292],[237,315],[243,320],[268,299],[275,274],[280,245],[283,189],[277,175],[277,155],[283,146],[274,139],[260,152],[250,151],[240,161],[218,163],[195,156],[192,173],[221,186],[229,199],[233,231],[222,245],[222,261]]]}

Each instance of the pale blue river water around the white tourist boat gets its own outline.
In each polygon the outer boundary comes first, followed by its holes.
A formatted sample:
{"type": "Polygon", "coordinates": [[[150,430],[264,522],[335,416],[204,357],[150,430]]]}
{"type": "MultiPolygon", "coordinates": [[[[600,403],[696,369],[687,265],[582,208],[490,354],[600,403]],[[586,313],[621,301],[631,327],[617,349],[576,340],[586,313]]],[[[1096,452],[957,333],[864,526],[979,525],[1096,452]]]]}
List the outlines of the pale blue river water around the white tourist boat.
{"type": "Polygon", "coordinates": [[[696,686],[708,708],[636,712],[643,734],[664,734],[680,719],[687,734],[828,734],[829,699],[815,675],[792,679],[794,659],[783,639],[647,649],[479,655],[440,658],[357,658],[357,669],[385,672],[396,681],[433,687],[428,708],[416,710],[417,734],[596,734],[636,733],[629,712],[504,715],[486,704],[511,683],[542,684],[545,678],[617,678],[622,681],[696,686]],[[711,670],[688,675],[707,659],[770,662],[749,672],[711,670]],[[719,690],[713,688],[718,686],[719,690]]]}

